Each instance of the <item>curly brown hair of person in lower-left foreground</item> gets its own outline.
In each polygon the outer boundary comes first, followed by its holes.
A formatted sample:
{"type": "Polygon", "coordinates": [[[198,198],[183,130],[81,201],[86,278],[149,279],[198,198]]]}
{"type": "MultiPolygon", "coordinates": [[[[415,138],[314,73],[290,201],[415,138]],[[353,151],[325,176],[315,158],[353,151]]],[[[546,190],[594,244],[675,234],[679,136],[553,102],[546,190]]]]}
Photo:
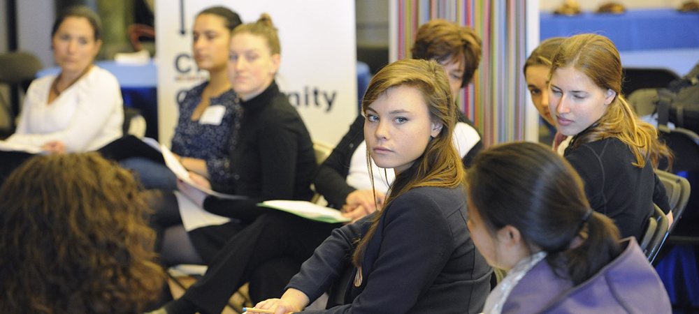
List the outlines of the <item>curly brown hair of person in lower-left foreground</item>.
{"type": "Polygon", "coordinates": [[[0,313],[140,313],[165,274],[147,205],[97,153],[36,156],[0,188],[0,313]]]}

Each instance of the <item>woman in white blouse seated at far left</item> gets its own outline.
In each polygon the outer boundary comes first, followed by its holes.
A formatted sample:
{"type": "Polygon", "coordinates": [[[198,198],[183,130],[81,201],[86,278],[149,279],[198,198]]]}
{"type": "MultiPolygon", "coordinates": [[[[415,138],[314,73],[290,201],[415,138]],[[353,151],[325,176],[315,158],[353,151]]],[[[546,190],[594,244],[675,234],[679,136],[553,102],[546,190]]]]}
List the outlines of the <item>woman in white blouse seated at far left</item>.
{"type": "Polygon", "coordinates": [[[102,45],[100,24],[85,6],[57,17],[51,46],[61,72],[31,82],[8,142],[61,154],[94,151],[122,136],[119,83],[92,63],[102,45]]]}

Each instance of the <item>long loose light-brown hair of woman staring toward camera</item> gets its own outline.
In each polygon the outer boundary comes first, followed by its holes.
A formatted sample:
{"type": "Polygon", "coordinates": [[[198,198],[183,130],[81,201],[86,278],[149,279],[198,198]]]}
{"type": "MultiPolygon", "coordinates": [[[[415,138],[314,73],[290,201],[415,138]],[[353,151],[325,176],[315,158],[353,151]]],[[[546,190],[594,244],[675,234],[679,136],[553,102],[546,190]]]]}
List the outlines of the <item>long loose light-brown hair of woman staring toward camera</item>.
{"type": "MultiPolygon", "coordinates": [[[[437,137],[428,142],[424,154],[415,160],[408,170],[396,176],[383,208],[388,207],[393,200],[413,188],[421,186],[456,188],[463,183],[463,163],[452,143],[456,106],[444,69],[436,61],[416,59],[403,59],[385,66],[369,83],[362,100],[362,111],[366,112],[367,107],[384,96],[389,89],[399,86],[412,87],[420,91],[432,121],[441,123],[442,130],[437,137]]],[[[367,160],[370,177],[373,178],[368,149],[367,160]]],[[[382,210],[380,214],[374,216],[366,235],[359,240],[353,257],[356,267],[361,267],[366,247],[373,238],[383,213],[382,210]]]]}

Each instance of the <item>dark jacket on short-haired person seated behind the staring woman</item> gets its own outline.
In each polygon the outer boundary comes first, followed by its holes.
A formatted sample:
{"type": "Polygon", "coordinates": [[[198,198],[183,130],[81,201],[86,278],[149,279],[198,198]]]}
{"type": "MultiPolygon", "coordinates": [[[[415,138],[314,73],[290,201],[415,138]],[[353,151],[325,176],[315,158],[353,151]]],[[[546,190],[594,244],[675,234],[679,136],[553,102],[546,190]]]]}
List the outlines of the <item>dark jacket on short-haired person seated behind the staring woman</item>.
{"type": "MultiPolygon", "coordinates": [[[[364,140],[364,117],[360,114],[352,126],[349,126],[349,132],[340,140],[340,143],[333,149],[333,152],[318,168],[318,175],[315,177],[313,185],[320,195],[325,197],[330,207],[340,208],[345,204],[347,195],[354,192],[356,188],[347,184],[347,174],[349,173],[349,162],[352,160],[352,154],[356,147],[364,140]]],[[[459,111],[459,122],[468,124],[471,128],[477,129],[473,124],[459,111]]],[[[480,133],[478,134],[480,135],[480,133]]],[[[463,166],[468,167],[475,154],[483,148],[482,140],[479,140],[468,153],[463,156],[463,166]]]]}

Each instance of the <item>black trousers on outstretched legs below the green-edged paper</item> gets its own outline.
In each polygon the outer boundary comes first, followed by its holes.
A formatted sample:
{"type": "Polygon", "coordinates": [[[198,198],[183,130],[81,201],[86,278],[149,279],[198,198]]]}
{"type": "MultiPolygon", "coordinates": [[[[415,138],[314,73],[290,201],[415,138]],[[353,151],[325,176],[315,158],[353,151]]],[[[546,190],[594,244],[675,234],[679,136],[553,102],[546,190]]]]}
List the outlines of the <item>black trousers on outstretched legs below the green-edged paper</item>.
{"type": "Polygon", "coordinates": [[[319,223],[272,211],[231,238],[201,280],[183,296],[202,313],[221,313],[241,285],[250,282],[252,301],[281,297],[291,277],[338,224],[319,223]]]}

